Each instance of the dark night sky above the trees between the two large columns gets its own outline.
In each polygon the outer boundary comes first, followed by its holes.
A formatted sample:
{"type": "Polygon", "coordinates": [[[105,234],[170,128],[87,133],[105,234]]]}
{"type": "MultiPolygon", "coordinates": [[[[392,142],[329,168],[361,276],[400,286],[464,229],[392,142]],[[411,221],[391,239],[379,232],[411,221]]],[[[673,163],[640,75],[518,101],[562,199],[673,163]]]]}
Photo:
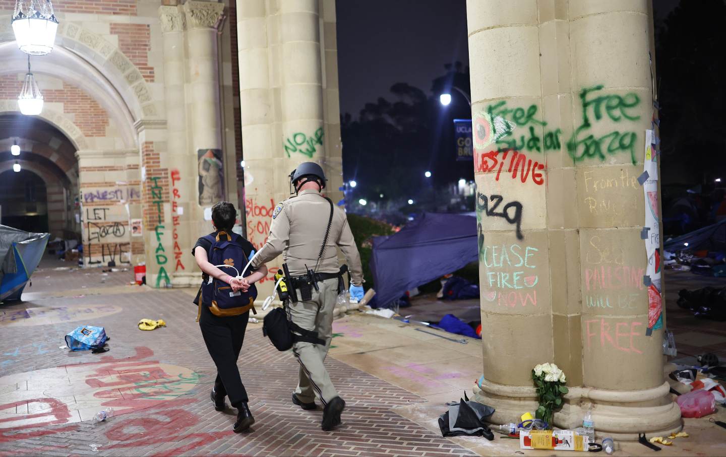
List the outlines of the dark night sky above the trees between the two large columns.
{"type": "Polygon", "coordinates": [[[444,64],[469,62],[465,0],[338,0],[340,112],[405,82],[431,95],[444,64]]]}

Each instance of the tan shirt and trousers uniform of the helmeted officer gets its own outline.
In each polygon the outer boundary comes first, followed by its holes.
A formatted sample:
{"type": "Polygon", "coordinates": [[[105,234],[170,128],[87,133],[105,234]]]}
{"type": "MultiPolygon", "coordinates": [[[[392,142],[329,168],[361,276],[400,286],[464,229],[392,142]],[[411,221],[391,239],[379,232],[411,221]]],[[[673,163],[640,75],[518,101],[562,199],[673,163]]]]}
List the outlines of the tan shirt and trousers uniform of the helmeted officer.
{"type": "MultiPolygon", "coordinates": [[[[286,199],[275,207],[269,238],[253,266],[267,263],[284,252],[284,262],[292,276],[302,276],[308,268],[316,273],[338,273],[337,246],[346,256],[351,282],[361,285],[363,268],[358,248],[346,213],[338,206],[333,205],[330,234],[322,257],[317,261],[329,219],[330,203],[316,190],[303,190],[297,196],[286,199]]],[[[338,279],[325,279],[317,284],[319,291],[312,290],[311,300],[290,303],[292,321],[303,329],[317,332],[318,337],[325,340],[325,346],[310,342],[295,342],[293,345],[293,353],[300,362],[300,382],[295,395],[303,403],[312,403],[317,393],[325,405],[338,396],[323,364],[333,337],[333,308],[338,300],[338,279]]]]}

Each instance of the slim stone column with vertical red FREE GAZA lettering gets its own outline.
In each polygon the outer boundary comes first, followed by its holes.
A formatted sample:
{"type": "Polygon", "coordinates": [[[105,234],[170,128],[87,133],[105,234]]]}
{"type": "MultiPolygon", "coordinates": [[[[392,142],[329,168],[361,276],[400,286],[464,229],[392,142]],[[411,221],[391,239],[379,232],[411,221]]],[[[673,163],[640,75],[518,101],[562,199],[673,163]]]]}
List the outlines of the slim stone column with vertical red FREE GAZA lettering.
{"type": "Polygon", "coordinates": [[[187,142],[187,110],[184,98],[184,75],[187,60],[184,52],[184,29],[187,17],[181,7],[159,7],[159,18],[164,39],[164,102],[166,107],[166,131],[168,132],[166,156],[169,158],[169,185],[171,186],[171,236],[174,241],[174,260],[168,267],[174,287],[189,287],[199,283],[199,273],[191,258],[189,246],[194,244],[192,231],[203,222],[203,213],[197,207],[196,151],[187,142]],[[173,181],[173,182],[172,182],[173,181]],[[195,220],[198,218],[199,220],[195,220]]]}

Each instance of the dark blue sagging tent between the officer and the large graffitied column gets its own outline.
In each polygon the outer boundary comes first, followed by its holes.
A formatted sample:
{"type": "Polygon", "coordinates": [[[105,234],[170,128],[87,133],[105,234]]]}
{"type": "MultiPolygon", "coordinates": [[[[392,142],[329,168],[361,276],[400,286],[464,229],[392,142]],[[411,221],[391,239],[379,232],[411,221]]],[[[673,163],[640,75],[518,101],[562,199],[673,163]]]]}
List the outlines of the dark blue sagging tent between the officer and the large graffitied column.
{"type": "Polygon", "coordinates": [[[476,217],[424,213],[397,234],[375,236],[370,269],[375,305],[478,260],[476,217]]]}

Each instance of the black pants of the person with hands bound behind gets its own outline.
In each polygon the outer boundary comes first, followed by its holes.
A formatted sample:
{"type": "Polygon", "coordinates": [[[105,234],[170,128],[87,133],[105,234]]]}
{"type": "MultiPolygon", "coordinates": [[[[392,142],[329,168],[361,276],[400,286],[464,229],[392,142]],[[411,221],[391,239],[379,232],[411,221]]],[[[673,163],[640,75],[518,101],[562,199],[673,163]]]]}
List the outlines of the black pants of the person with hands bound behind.
{"type": "Polygon", "coordinates": [[[205,305],[200,306],[202,316],[199,319],[199,326],[202,329],[202,337],[209,355],[217,366],[214,389],[217,395],[227,395],[229,403],[232,403],[234,408],[239,408],[240,403],[249,401],[240,377],[240,369],[237,368],[237,358],[245,340],[245,329],[250,313],[248,311],[240,316],[218,317],[214,316],[205,305]]]}

